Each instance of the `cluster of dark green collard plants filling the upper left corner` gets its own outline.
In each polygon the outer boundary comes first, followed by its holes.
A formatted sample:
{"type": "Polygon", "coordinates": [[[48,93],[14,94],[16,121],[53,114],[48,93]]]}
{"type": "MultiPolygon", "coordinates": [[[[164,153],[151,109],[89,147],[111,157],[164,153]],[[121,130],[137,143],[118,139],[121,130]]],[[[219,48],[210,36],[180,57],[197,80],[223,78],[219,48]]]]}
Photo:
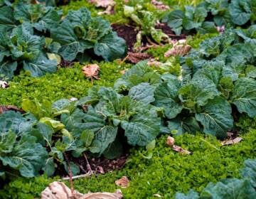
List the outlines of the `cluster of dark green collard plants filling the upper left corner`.
{"type": "Polygon", "coordinates": [[[85,62],[122,57],[125,41],[112,31],[110,23],[91,17],[85,8],[69,11],[23,1],[0,8],[0,73],[11,78],[26,70],[32,76],[55,72],[60,57],[85,62]]]}

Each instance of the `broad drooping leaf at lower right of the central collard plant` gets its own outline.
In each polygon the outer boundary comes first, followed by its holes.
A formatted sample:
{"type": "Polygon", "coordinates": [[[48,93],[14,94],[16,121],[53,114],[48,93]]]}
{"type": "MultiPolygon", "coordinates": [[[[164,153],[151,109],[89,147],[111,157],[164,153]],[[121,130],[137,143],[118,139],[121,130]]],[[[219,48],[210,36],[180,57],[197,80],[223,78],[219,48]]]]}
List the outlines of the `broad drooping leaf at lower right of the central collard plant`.
{"type": "Polygon", "coordinates": [[[160,123],[155,109],[142,107],[142,110],[134,114],[129,121],[122,120],[121,127],[129,144],[146,146],[159,134],[160,123]]]}

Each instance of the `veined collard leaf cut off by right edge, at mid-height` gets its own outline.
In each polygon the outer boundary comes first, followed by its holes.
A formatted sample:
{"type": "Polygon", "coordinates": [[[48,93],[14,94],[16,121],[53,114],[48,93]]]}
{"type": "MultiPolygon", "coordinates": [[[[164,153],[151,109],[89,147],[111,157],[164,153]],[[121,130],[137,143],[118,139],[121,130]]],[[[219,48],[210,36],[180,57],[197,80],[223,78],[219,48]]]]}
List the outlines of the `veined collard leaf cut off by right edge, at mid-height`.
{"type": "Polygon", "coordinates": [[[256,82],[244,77],[235,82],[232,97],[233,104],[240,113],[245,112],[249,117],[256,116],[256,82]]]}

